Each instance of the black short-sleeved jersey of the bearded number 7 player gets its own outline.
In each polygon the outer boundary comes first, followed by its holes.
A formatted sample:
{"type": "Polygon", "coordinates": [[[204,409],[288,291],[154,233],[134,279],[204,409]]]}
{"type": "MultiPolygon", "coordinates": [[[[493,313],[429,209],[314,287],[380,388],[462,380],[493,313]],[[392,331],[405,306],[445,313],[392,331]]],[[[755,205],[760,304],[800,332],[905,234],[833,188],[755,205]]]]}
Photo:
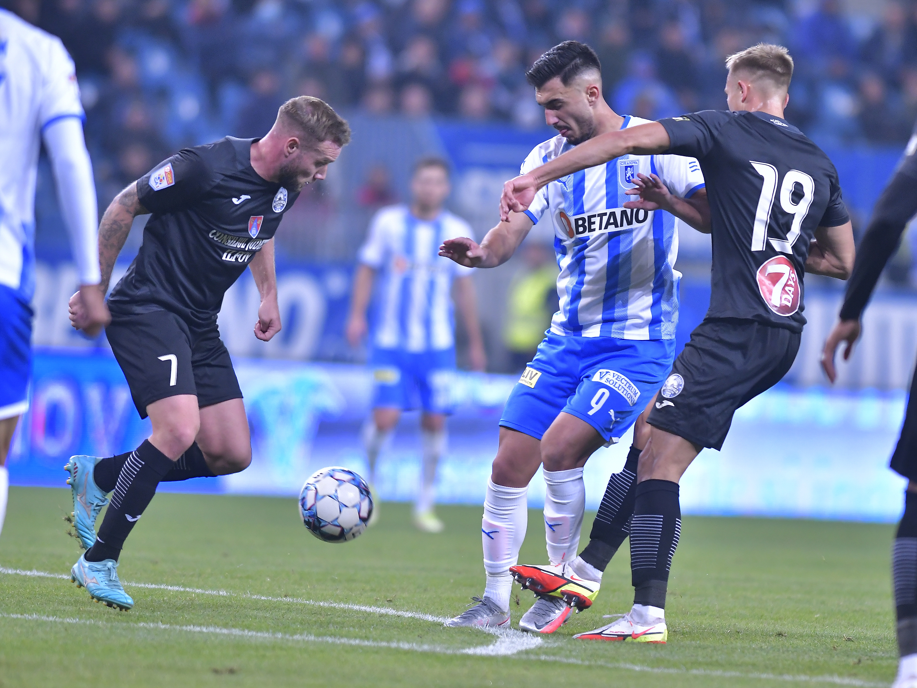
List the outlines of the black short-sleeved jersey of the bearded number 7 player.
{"type": "Polygon", "coordinates": [[[256,139],[180,150],[137,182],[152,213],[137,258],[108,298],[114,314],[167,310],[211,327],[223,295],[274,236],[293,194],[251,167],[256,139]]]}

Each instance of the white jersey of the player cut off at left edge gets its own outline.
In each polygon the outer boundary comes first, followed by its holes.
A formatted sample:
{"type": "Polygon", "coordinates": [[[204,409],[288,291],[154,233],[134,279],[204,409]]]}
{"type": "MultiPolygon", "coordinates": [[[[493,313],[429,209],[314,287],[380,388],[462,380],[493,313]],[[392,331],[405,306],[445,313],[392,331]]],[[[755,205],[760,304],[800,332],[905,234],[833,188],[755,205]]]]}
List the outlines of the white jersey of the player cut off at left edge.
{"type": "Polygon", "coordinates": [[[35,291],[41,134],[61,117],[83,117],[70,55],[60,39],[0,8],[0,284],[26,302],[35,291]]]}

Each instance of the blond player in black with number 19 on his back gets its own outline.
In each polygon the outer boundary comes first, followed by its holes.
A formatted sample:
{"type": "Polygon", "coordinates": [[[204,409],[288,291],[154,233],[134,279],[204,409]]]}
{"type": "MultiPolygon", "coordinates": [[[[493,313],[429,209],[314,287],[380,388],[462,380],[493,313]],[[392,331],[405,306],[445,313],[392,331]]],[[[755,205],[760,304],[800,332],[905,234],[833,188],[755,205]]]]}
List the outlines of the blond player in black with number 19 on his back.
{"type": "Polygon", "coordinates": [[[710,309],[659,391],[638,463],[630,527],[634,607],[578,638],[666,641],[681,475],[702,448],[722,447],[738,407],[790,370],[805,324],[803,271],[846,279],[853,266],[853,232],[834,165],[783,118],[789,52],[760,44],[731,56],[726,67],[730,112],[602,134],[503,187],[505,220],[567,174],[626,153],[673,153],[700,162],[710,200],[710,309]]]}

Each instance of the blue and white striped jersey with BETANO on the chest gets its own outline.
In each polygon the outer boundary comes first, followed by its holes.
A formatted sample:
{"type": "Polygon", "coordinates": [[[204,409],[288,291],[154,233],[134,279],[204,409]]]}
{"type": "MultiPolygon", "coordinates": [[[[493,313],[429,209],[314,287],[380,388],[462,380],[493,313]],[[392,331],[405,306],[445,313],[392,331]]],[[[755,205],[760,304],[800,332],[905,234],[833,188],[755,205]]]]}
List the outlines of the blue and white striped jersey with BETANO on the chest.
{"type": "MultiPolygon", "coordinates": [[[[622,128],[649,120],[625,117],[622,128]]],[[[534,170],[572,146],[555,137],[522,165],[534,170]]],[[[703,188],[701,166],[678,155],[625,155],[547,184],[526,210],[552,222],[558,254],[560,308],[551,331],[574,337],[671,339],[678,324],[678,218],[624,208],[637,172],[655,173],[668,190],[689,198],[703,188]]]]}

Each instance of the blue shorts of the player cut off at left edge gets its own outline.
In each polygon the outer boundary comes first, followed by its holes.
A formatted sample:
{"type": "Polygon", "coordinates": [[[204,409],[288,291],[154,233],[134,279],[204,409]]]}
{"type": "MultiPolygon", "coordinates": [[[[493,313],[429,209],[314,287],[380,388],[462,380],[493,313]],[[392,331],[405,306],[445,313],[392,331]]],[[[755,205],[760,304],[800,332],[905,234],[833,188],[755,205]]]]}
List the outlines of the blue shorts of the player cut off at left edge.
{"type": "Polygon", "coordinates": [[[0,420],[28,410],[28,376],[32,371],[32,308],[17,293],[0,285],[0,420]]]}

